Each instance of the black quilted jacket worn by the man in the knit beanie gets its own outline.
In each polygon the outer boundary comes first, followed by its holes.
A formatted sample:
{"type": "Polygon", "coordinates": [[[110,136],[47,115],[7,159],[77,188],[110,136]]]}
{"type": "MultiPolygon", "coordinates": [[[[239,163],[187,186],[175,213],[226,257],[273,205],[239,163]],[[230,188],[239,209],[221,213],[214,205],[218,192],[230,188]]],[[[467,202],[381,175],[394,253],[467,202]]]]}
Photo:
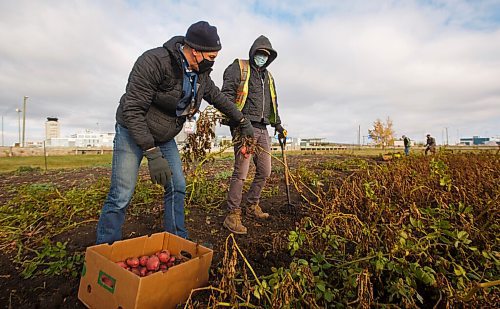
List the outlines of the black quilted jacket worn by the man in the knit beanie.
{"type": "MultiPolygon", "coordinates": [[[[174,138],[186,121],[175,110],[182,96],[183,68],[179,46],[183,36],[176,36],[142,54],[134,64],[125,94],[116,111],[116,121],[126,127],[143,149],[155,147],[174,138]]],[[[232,121],[243,114],[223,95],[210,78],[210,71],[199,74],[196,109],[201,100],[215,106],[232,121]]]]}

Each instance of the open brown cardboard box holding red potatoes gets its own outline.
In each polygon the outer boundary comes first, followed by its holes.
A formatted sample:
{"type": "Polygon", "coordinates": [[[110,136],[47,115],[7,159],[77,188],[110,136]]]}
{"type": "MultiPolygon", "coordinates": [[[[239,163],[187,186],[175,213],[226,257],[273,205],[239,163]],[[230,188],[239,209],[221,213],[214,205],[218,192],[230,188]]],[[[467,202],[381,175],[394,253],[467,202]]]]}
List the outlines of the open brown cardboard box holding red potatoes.
{"type": "Polygon", "coordinates": [[[191,289],[208,284],[212,256],[212,250],[170,233],[88,247],[78,298],[89,308],[175,308],[187,300],[191,289]],[[162,249],[174,255],[187,251],[192,258],[147,277],[139,277],[115,263],[162,249]]]}

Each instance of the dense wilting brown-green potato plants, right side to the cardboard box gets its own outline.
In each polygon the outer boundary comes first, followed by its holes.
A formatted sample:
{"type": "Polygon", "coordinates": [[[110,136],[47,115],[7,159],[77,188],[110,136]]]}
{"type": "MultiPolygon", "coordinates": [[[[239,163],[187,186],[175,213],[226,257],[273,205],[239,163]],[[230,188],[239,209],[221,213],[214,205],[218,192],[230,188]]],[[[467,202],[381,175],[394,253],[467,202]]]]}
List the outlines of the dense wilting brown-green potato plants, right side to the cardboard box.
{"type": "Polygon", "coordinates": [[[308,216],[288,235],[293,262],[248,278],[251,266],[228,248],[231,266],[224,264],[218,286],[224,292],[213,293],[212,304],[494,307],[500,299],[498,166],[494,154],[442,153],[299,167],[292,181],[308,216]],[[347,177],[332,177],[347,169],[347,177]]]}

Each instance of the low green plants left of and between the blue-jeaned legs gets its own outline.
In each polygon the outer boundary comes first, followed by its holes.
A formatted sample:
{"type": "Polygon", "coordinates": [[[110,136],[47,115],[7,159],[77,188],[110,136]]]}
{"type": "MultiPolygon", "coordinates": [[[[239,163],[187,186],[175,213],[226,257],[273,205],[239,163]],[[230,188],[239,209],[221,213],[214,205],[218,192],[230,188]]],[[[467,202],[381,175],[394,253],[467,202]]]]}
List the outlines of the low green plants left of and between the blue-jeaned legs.
{"type": "MultiPolygon", "coordinates": [[[[53,242],[51,238],[97,221],[108,189],[108,177],[82,187],[32,183],[12,188],[13,197],[0,205],[0,249],[16,250],[15,262],[22,267],[21,275],[25,278],[40,274],[76,276],[83,253],[69,254],[66,243],[53,242]]],[[[152,203],[162,190],[150,181],[139,180],[131,214],[152,203]]]]}

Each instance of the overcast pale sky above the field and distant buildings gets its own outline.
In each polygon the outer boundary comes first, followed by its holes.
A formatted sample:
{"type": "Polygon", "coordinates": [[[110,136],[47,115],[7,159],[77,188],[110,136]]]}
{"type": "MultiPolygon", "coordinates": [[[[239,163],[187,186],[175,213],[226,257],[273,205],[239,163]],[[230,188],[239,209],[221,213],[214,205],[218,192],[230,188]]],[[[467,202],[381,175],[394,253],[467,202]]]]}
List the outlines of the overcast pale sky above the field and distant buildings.
{"type": "Polygon", "coordinates": [[[221,38],[219,87],[259,35],[270,39],[293,137],[353,143],[359,126],[367,135],[388,116],[398,136],[417,141],[430,133],[440,143],[445,128],[450,143],[500,135],[498,0],[0,0],[4,144],[18,139],[24,96],[26,140],[44,139],[47,117],[59,118],[62,136],[113,132],[137,57],[199,20],[221,38]]]}

